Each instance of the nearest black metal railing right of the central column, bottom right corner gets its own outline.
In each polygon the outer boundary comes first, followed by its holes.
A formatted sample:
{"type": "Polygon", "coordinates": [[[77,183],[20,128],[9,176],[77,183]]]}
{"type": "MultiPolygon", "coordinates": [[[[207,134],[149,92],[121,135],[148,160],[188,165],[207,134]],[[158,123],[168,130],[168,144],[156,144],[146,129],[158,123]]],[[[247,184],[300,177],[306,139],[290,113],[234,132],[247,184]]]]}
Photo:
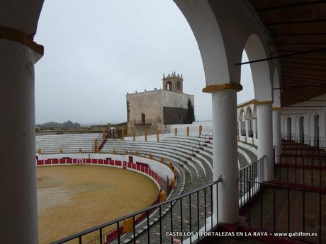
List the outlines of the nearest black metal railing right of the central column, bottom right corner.
{"type": "Polygon", "coordinates": [[[285,233],[283,235],[287,236],[283,237],[307,243],[325,243],[325,192],[245,179],[239,181],[240,192],[245,192],[242,197],[247,202],[240,208],[240,225],[274,233],[272,236],[285,233]],[[254,189],[264,190],[255,192],[254,189]]]}

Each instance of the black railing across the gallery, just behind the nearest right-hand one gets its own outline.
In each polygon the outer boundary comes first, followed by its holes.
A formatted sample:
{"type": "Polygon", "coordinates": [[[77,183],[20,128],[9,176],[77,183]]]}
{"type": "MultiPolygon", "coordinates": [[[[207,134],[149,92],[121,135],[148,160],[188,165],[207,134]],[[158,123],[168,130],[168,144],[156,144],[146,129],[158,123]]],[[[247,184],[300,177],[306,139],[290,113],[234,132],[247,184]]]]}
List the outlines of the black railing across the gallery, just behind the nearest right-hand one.
{"type": "Polygon", "coordinates": [[[312,156],[275,156],[275,177],[279,182],[326,187],[326,158],[312,156]]]}

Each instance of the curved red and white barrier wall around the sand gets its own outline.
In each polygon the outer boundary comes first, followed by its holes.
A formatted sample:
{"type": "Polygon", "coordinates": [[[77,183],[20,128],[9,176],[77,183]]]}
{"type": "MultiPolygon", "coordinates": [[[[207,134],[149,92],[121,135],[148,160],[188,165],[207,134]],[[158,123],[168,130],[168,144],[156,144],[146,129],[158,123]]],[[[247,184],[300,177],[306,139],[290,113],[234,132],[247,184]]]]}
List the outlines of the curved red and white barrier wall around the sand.
{"type": "Polygon", "coordinates": [[[161,179],[174,178],[172,170],[149,158],[133,155],[117,155],[108,153],[57,153],[36,154],[36,165],[101,165],[115,168],[123,168],[141,173],[150,178],[161,190],[161,179]]]}

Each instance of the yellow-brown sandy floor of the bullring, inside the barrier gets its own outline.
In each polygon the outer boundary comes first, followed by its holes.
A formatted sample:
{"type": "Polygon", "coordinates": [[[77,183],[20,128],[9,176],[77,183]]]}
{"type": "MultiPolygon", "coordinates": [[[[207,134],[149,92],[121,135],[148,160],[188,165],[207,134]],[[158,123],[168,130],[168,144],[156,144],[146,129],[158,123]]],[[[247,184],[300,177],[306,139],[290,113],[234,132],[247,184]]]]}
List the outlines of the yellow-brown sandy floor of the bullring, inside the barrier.
{"type": "Polygon", "coordinates": [[[118,168],[47,166],[37,176],[41,244],[145,208],[159,193],[144,175],[118,168]]]}

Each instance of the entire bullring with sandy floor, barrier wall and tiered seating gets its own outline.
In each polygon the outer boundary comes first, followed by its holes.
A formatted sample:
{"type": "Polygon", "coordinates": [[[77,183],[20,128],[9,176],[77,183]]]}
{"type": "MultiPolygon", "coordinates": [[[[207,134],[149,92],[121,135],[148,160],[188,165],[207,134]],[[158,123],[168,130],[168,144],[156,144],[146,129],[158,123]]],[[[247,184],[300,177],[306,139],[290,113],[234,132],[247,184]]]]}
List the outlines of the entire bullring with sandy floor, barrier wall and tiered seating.
{"type": "MultiPolygon", "coordinates": [[[[40,243],[99,226],[211,182],[211,124],[204,122],[203,125],[193,124],[189,129],[186,127],[189,125],[179,125],[171,128],[172,133],[146,138],[106,139],[105,134],[36,136],[40,243]],[[163,198],[162,192],[165,192],[163,198]]],[[[252,144],[240,138],[239,168],[257,161],[256,141],[250,142],[252,144]]],[[[210,189],[199,192],[202,198],[206,195],[206,209],[205,202],[196,202],[193,198],[200,212],[192,221],[203,226],[206,215],[212,212],[211,196],[210,189]]],[[[189,207],[189,202],[183,204],[184,209],[189,207]]],[[[163,207],[162,225],[168,228],[171,205],[163,207]]],[[[174,228],[178,229],[181,227],[179,202],[173,204],[172,210],[174,228]]],[[[144,221],[146,224],[147,215],[139,214],[137,218],[137,243],[146,243],[144,221]]],[[[157,222],[157,211],[150,212],[148,223],[154,232],[153,239],[157,238],[155,233],[159,233],[157,222]]],[[[132,240],[133,234],[128,231],[130,221],[119,221],[119,224],[119,232],[116,225],[103,228],[102,243],[114,243],[118,235],[120,243],[132,240]]],[[[189,228],[187,223],[184,228],[189,228]]],[[[84,235],[82,243],[100,243],[98,236],[98,231],[84,235]]],[[[162,243],[170,241],[163,238],[162,243]]],[[[71,240],[68,243],[79,242],[71,240]]]]}

